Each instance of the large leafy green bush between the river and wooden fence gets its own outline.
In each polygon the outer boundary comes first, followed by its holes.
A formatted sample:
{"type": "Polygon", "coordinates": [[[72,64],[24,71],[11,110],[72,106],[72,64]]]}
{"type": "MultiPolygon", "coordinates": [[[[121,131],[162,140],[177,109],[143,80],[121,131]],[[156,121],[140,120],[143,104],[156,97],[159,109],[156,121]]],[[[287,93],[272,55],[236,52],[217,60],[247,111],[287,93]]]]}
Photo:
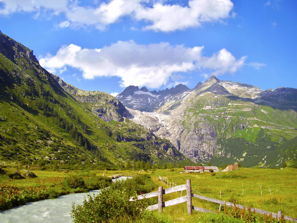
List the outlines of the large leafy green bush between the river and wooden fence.
{"type": "Polygon", "coordinates": [[[73,203],[71,211],[73,222],[118,222],[119,219],[145,218],[146,211],[143,210],[151,204],[152,200],[142,199],[130,202],[129,199],[135,193],[147,193],[155,187],[148,175],[118,180],[110,187],[102,189],[96,197],[88,195],[83,205],[75,207],[73,203]]]}

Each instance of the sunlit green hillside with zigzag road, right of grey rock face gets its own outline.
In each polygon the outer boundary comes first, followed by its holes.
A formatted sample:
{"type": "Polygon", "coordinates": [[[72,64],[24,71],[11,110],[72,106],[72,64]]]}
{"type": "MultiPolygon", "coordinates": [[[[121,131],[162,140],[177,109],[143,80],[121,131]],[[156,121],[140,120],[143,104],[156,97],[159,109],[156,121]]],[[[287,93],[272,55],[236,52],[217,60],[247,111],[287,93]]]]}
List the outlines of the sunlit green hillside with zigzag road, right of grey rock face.
{"type": "Polygon", "coordinates": [[[188,103],[184,126],[189,128],[192,120],[196,120],[211,123],[217,132],[217,150],[211,164],[224,166],[240,162],[247,167],[271,168],[297,164],[297,113],[294,109],[260,105],[210,92],[188,103]],[[206,109],[206,106],[212,108],[206,109]]]}

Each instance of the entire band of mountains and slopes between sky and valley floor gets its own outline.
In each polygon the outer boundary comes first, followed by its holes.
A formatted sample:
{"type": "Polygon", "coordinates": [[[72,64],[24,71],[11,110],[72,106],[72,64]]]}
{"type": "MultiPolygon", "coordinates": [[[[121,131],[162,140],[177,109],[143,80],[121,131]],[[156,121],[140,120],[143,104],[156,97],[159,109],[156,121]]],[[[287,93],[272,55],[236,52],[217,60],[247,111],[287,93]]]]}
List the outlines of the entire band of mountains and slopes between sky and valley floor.
{"type": "Polygon", "coordinates": [[[129,86],[116,98],[43,69],[0,33],[0,162],[124,166],[128,160],[297,166],[297,89],[215,76],[193,89],[129,86]]]}

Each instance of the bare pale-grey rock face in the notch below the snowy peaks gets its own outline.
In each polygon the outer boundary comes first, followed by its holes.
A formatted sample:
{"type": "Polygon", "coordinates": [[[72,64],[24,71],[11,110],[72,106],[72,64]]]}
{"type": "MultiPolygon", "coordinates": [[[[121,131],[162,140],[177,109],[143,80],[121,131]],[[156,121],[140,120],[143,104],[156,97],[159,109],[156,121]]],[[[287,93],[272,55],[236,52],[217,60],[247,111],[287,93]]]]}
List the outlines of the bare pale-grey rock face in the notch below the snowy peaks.
{"type": "Polygon", "coordinates": [[[168,139],[186,157],[193,161],[208,160],[214,156],[217,133],[214,126],[206,123],[204,119],[198,123],[193,121],[185,128],[182,121],[186,108],[187,106],[182,104],[178,109],[166,114],[128,110],[133,115],[132,121],[151,129],[157,136],[168,139]]]}

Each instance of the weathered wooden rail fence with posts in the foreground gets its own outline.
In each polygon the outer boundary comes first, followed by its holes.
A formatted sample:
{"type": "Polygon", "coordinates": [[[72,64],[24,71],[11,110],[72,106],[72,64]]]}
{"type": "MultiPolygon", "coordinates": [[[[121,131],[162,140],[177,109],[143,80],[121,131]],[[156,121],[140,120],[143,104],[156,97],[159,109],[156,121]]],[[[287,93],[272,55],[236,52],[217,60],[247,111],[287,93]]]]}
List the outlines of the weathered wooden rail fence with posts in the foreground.
{"type": "MultiPolygon", "coordinates": [[[[176,205],[176,204],[181,204],[181,203],[187,202],[187,210],[188,210],[189,215],[192,214],[192,210],[200,211],[200,212],[204,212],[204,213],[216,213],[215,211],[211,211],[211,210],[208,210],[208,209],[205,209],[205,208],[199,208],[199,207],[192,206],[192,197],[196,197],[196,198],[199,198],[201,200],[207,200],[207,201],[210,201],[210,202],[220,204],[220,208],[221,208],[221,205],[230,206],[230,207],[233,207],[233,208],[234,208],[234,205],[235,205],[239,209],[248,210],[248,207],[244,206],[244,205],[234,204],[234,203],[231,203],[231,202],[228,202],[228,201],[222,201],[222,200],[218,200],[218,199],[214,199],[214,198],[210,198],[210,197],[201,196],[201,195],[198,195],[198,194],[192,194],[191,180],[187,180],[186,184],[182,184],[182,185],[167,188],[167,189],[163,189],[163,187],[160,186],[158,191],[154,191],[154,192],[151,192],[151,193],[148,193],[148,194],[141,194],[141,195],[138,195],[136,197],[130,197],[130,201],[140,200],[140,199],[150,198],[150,197],[157,197],[157,196],[158,196],[158,203],[155,204],[155,205],[151,205],[151,206],[147,207],[147,210],[154,211],[154,210],[158,209],[159,213],[160,213],[162,211],[163,207],[168,207],[168,206],[171,206],[171,205],[176,205]],[[170,194],[170,193],[173,193],[173,192],[183,191],[183,190],[187,191],[186,196],[178,197],[176,199],[163,202],[163,194],[170,194]]],[[[220,208],[219,208],[219,210],[220,210],[220,208]]],[[[270,214],[272,214],[272,217],[278,218],[278,219],[280,219],[282,217],[282,211],[279,211],[278,213],[273,213],[273,212],[270,212],[270,211],[261,210],[259,208],[250,208],[250,211],[255,212],[255,213],[259,213],[259,214],[267,214],[268,216],[270,214]]],[[[289,220],[289,221],[293,221],[293,222],[297,222],[297,218],[293,218],[293,217],[289,217],[289,216],[284,216],[284,219],[289,220]]]]}

